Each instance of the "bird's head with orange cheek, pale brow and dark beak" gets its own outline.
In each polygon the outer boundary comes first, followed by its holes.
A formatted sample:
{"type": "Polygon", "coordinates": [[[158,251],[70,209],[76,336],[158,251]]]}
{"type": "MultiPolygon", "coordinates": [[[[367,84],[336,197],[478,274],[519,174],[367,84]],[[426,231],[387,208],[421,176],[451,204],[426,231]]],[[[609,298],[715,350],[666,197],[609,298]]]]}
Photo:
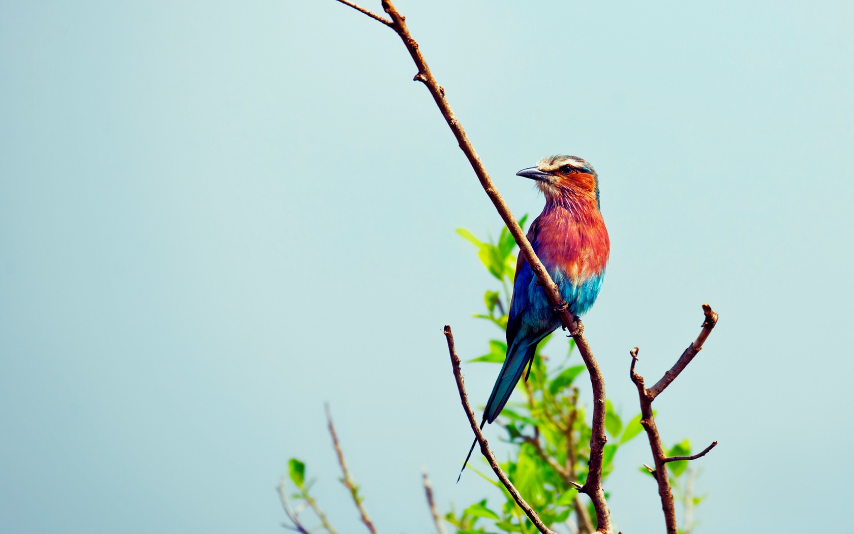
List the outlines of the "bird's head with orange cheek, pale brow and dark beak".
{"type": "Polygon", "coordinates": [[[593,167],[577,156],[551,156],[536,167],[522,169],[517,176],[536,180],[547,202],[596,202],[599,208],[599,176],[593,167]]]}

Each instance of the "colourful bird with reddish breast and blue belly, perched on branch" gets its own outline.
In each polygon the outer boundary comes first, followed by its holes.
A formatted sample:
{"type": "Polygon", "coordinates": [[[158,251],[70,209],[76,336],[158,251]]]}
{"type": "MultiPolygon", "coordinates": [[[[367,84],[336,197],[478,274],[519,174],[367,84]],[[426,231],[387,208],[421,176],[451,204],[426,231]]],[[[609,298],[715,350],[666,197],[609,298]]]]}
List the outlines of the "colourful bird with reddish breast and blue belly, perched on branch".
{"type": "MultiPolygon", "coordinates": [[[[535,180],[546,198],[542,213],[529,227],[528,241],[558,285],[570,313],[581,316],[599,296],[611,252],[600,210],[599,175],[577,156],[546,157],[516,174],[535,180]]],[[[559,326],[559,315],[520,254],[507,320],[507,355],[483,410],[482,429],[501,413],[526,367],[530,373],[537,344],[559,326]]],[[[476,444],[477,439],[463,469],[476,444]]]]}

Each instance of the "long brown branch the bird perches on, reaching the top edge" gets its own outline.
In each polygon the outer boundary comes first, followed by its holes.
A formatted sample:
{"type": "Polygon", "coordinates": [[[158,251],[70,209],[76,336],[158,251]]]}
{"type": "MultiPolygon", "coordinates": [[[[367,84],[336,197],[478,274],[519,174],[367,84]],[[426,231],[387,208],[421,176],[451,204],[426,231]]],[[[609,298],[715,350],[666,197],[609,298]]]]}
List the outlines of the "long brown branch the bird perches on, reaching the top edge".
{"type": "MultiPolygon", "coordinates": [[[[341,2],[342,0],[338,1],[341,2]]],[[[397,35],[401,38],[403,44],[409,51],[409,55],[412,57],[412,61],[415,62],[416,67],[418,67],[418,73],[415,74],[413,80],[422,82],[427,87],[427,90],[430,91],[430,95],[433,97],[434,102],[436,102],[436,106],[442,112],[442,117],[445,118],[447,126],[451,128],[453,137],[457,139],[460,150],[463,151],[465,157],[471,164],[471,168],[474,170],[475,174],[477,174],[477,179],[480,180],[480,183],[483,186],[483,191],[486,191],[487,196],[494,204],[495,209],[501,216],[501,219],[504,220],[507,229],[516,240],[520,252],[524,255],[525,261],[528,261],[528,265],[531,267],[531,270],[534,271],[534,274],[539,280],[543,290],[545,290],[548,301],[552,304],[554,311],[559,315],[564,328],[569,331],[575,339],[576,345],[582,354],[584,365],[587,366],[588,373],[590,374],[590,383],[593,388],[594,402],[588,479],[587,483],[584,484],[584,487],[580,491],[590,496],[590,499],[594,503],[594,508],[596,509],[596,522],[599,525],[598,531],[610,534],[612,531],[611,512],[608,510],[608,505],[605,502],[605,490],[602,489],[602,457],[605,450],[605,443],[607,442],[607,437],[605,437],[605,380],[602,378],[602,373],[600,371],[599,364],[594,358],[593,351],[590,349],[590,345],[583,335],[584,329],[582,322],[570,313],[566,302],[564,302],[563,297],[560,296],[558,285],[554,283],[552,277],[549,276],[546,267],[544,267],[539,258],[537,258],[534,249],[531,247],[528,239],[525,238],[522,228],[519,227],[519,224],[513,217],[510,208],[508,208],[506,202],[504,202],[504,198],[501,197],[492,179],[489,178],[486,167],[483,166],[483,161],[481,161],[480,156],[477,156],[477,151],[475,151],[474,147],[471,145],[471,140],[469,140],[463,126],[459,124],[459,120],[457,120],[456,115],[453,114],[450,104],[447,103],[447,99],[445,98],[445,89],[442,85],[439,85],[438,82],[436,82],[436,79],[433,77],[433,73],[430,72],[430,67],[427,66],[427,62],[424,60],[424,56],[421,55],[418,43],[409,33],[406,17],[397,11],[391,0],[383,0],[383,10],[391,18],[391,28],[395,30],[397,35]]],[[[360,11],[366,13],[365,10],[360,9],[360,11]]],[[[366,15],[369,14],[366,13],[366,15]]],[[[377,15],[369,16],[373,19],[377,19],[377,15]]],[[[383,20],[381,20],[381,22],[383,22],[383,24],[386,23],[386,21],[383,20]]]]}

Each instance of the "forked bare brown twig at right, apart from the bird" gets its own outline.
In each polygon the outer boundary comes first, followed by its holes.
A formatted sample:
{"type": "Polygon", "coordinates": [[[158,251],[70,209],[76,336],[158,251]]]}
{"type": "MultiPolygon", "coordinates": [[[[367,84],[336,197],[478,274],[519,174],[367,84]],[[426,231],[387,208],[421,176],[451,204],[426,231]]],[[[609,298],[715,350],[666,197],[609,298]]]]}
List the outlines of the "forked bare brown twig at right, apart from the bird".
{"type": "Polygon", "coordinates": [[[643,425],[644,430],[646,431],[646,437],[649,440],[650,449],[652,449],[652,458],[655,461],[655,468],[644,466],[650,472],[652,472],[652,476],[655,477],[656,482],[658,482],[658,496],[661,497],[661,509],[664,512],[664,524],[667,527],[668,534],[676,534],[677,526],[676,526],[676,509],[673,506],[673,490],[670,488],[670,477],[667,474],[667,462],[669,461],[677,461],[677,460],[696,460],[700,456],[708,453],[712,448],[717,445],[717,441],[711,443],[708,447],[705,448],[701,453],[693,456],[668,456],[664,453],[664,445],[661,443],[661,435],[658,433],[658,426],[655,424],[655,416],[652,414],[652,401],[655,400],[655,397],[658,396],[664,388],[670,385],[679,373],[687,366],[688,363],[693,360],[693,357],[697,355],[700,349],[703,348],[703,343],[705,343],[706,337],[709,337],[709,333],[711,329],[715,327],[717,324],[717,314],[711,310],[711,307],[708,304],[703,304],[703,313],[705,314],[705,321],[703,321],[703,329],[700,331],[699,336],[696,341],[691,343],[685,352],[679,357],[679,360],[676,361],[676,365],[670,368],[667,373],[664,373],[664,377],[658,380],[652,388],[646,389],[644,387],[644,380],[638,373],[635,373],[635,365],[638,361],[638,348],[632,349],[629,354],[632,356],[632,363],[629,367],[629,376],[632,378],[632,382],[635,383],[638,390],[638,397],[640,398],[640,425],[643,425]]]}

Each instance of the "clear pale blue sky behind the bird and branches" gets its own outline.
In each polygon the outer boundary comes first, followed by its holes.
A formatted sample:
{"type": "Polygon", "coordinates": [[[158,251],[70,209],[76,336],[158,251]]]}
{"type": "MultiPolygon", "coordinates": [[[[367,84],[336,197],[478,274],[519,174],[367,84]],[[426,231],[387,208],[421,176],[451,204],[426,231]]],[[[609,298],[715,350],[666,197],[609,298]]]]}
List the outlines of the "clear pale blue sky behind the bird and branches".
{"type": "MultiPolygon", "coordinates": [[[[599,171],[585,325],[624,416],[629,349],[658,378],[721,314],[656,402],[720,441],[698,534],[849,530],[852,4],[399,8],[515,214],[542,156],[599,171]]],[[[415,73],[332,0],[0,2],[0,531],[279,532],[291,456],[361,531],[325,401],[383,533],[431,531],[423,465],[442,508],[489,495],[453,484],[441,328],[500,336],[454,233],[500,219],[415,73]]],[[[496,372],[465,365],[474,402],[496,372]]],[[[627,533],[664,530],[649,458],[606,486],[627,533]]]]}

